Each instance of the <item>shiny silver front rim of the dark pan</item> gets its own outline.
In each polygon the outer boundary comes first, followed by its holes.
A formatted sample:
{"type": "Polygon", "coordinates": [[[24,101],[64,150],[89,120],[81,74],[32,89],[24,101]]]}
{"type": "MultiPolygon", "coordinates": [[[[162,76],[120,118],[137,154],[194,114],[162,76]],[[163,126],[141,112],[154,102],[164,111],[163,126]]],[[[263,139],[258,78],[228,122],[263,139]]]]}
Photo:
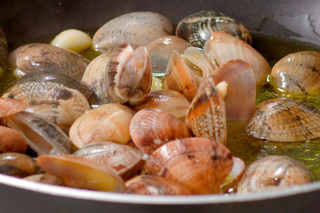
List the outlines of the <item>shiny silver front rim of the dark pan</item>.
{"type": "Polygon", "coordinates": [[[270,191],[263,193],[237,194],[212,194],[212,195],[189,195],[189,196],[150,196],[135,194],[119,194],[110,192],[98,192],[83,189],[68,188],[64,186],[52,186],[42,183],[31,182],[24,179],[14,178],[0,174],[0,184],[18,187],[44,194],[71,197],[77,199],[94,200],[102,202],[120,202],[132,204],[154,204],[154,205],[192,205],[192,204],[214,204],[229,202],[248,202],[278,197],[304,194],[320,190],[320,181],[292,186],[281,191],[270,191]]]}

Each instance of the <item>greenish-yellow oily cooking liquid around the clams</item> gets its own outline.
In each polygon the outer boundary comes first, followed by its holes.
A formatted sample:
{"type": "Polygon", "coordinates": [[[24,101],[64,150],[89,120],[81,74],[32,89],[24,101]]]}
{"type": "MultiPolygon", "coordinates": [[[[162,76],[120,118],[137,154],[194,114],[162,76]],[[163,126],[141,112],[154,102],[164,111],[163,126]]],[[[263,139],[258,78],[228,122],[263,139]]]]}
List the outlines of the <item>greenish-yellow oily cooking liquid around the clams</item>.
{"type": "MultiPolygon", "coordinates": [[[[94,31],[93,31],[94,32],[94,31]]],[[[91,34],[92,35],[92,34],[91,34]]],[[[52,39],[54,36],[51,37],[52,39]]],[[[279,59],[293,52],[303,50],[320,51],[320,47],[295,40],[266,36],[252,33],[253,47],[266,58],[272,67],[279,59]]],[[[41,40],[40,40],[41,41],[41,40]]],[[[44,42],[44,41],[43,41],[44,42]]],[[[49,43],[50,41],[45,41],[49,43]]],[[[93,60],[99,55],[93,49],[87,49],[80,55],[93,60]]],[[[11,87],[17,77],[8,69],[0,78],[0,95],[11,87]]],[[[320,108],[319,95],[284,95],[268,82],[257,87],[256,105],[271,98],[291,98],[320,108]]],[[[234,156],[241,158],[246,165],[269,155],[286,155],[303,162],[314,175],[314,180],[320,180],[320,139],[299,142],[268,142],[253,138],[245,132],[245,124],[237,120],[227,121],[227,147],[234,156]]]]}

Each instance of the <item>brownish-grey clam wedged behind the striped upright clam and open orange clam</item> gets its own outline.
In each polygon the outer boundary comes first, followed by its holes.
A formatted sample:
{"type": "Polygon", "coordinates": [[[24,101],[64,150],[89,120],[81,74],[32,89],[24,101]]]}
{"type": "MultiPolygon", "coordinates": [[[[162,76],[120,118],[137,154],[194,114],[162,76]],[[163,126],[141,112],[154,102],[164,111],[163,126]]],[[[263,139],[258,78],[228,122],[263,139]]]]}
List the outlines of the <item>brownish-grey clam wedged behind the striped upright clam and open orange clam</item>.
{"type": "Polygon", "coordinates": [[[188,47],[192,47],[192,45],[174,35],[162,36],[146,45],[152,62],[152,72],[154,75],[165,73],[170,53],[173,50],[176,50],[179,54],[183,54],[188,47]]]}

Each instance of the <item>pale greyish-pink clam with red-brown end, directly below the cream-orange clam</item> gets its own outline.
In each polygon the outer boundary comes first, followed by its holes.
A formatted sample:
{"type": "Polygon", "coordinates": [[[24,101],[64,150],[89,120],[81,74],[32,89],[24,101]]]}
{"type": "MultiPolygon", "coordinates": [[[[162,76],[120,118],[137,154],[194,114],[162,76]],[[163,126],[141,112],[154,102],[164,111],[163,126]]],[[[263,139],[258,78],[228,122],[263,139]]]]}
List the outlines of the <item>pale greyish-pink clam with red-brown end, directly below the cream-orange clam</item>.
{"type": "Polygon", "coordinates": [[[107,141],[90,143],[74,155],[110,166],[124,180],[136,176],[144,166],[143,153],[139,149],[107,141]]]}

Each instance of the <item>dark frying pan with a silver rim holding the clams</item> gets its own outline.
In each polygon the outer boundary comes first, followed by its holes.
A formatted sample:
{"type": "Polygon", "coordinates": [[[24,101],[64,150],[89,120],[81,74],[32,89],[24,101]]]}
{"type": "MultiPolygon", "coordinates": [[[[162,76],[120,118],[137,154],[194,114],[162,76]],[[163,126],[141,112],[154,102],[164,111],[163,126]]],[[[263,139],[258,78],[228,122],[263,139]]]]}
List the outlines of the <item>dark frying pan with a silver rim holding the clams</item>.
{"type": "MultiPolygon", "coordinates": [[[[64,29],[98,29],[108,20],[132,11],[158,12],[175,26],[189,14],[210,9],[234,17],[248,27],[254,47],[271,57],[268,60],[288,54],[282,51],[286,49],[284,45],[291,45],[290,52],[320,50],[316,45],[320,44],[320,1],[317,0],[1,0],[0,24],[12,50],[52,38],[64,29]]],[[[0,175],[0,212],[5,213],[319,212],[319,197],[320,182],[247,195],[165,197],[72,189],[0,175]]]]}

